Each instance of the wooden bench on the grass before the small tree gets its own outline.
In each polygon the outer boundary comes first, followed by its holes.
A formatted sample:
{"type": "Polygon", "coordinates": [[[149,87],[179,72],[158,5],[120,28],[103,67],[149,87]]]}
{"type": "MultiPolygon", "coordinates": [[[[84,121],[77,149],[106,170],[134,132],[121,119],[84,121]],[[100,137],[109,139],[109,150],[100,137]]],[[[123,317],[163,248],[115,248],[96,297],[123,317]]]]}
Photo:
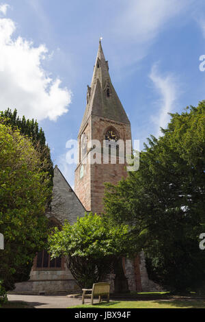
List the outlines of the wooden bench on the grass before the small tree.
{"type": "Polygon", "coordinates": [[[99,303],[102,301],[102,296],[107,296],[107,302],[109,303],[109,290],[110,284],[105,282],[95,283],[92,288],[83,288],[82,304],[85,303],[85,297],[91,297],[91,304],[93,305],[93,299],[95,296],[99,297],[99,303]],[[90,294],[85,294],[90,291],[90,294]]]}

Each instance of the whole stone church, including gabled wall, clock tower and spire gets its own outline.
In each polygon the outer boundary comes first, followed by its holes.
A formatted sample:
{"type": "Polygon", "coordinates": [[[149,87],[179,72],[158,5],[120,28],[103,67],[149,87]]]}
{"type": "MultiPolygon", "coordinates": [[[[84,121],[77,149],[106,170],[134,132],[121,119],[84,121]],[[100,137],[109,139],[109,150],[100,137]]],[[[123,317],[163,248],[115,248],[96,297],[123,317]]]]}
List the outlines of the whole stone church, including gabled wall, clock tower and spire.
{"type": "MultiPolygon", "coordinates": [[[[126,177],[127,172],[125,164],[118,160],[117,164],[84,162],[92,153],[88,142],[98,140],[103,146],[103,140],[115,143],[119,139],[124,142],[131,140],[131,123],[111,82],[109,65],[100,42],[92,82],[87,86],[86,108],[79,129],[79,162],[75,170],[74,190],[55,166],[51,212],[46,214],[52,225],[60,227],[65,220],[72,224],[77,216],[84,216],[85,212],[100,214],[103,211],[103,183],[117,184],[122,177],[126,177]]],[[[135,260],[123,259],[122,263],[129,290],[157,290],[156,284],[148,280],[143,253],[135,260]]],[[[113,276],[110,276],[110,281],[113,286],[113,276]]],[[[49,253],[43,250],[33,260],[29,281],[17,283],[14,292],[52,294],[74,293],[77,290],[79,286],[66,267],[64,258],[51,260],[49,253]]]]}

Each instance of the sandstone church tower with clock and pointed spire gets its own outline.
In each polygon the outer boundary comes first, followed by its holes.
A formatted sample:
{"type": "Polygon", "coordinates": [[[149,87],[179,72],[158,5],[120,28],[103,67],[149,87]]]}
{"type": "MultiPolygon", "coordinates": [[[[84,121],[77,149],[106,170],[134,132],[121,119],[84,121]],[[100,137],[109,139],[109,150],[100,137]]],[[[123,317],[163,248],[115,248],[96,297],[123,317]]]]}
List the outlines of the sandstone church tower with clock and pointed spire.
{"type": "Polygon", "coordinates": [[[119,161],[119,146],[116,146],[116,162],[111,160],[110,152],[109,162],[103,160],[103,141],[107,146],[114,146],[118,140],[124,143],[122,149],[125,149],[126,140],[131,140],[131,123],[111,83],[108,62],[99,42],[92,82],[87,86],[86,108],[78,135],[79,162],[75,171],[74,190],[87,211],[100,214],[103,211],[104,183],[117,184],[127,175],[124,160],[122,162],[121,158],[119,161]],[[94,140],[100,142],[101,148],[94,140]],[[100,153],[101,162],[85,163],[93,151],[96,151],[96,159],[100,153]]]}

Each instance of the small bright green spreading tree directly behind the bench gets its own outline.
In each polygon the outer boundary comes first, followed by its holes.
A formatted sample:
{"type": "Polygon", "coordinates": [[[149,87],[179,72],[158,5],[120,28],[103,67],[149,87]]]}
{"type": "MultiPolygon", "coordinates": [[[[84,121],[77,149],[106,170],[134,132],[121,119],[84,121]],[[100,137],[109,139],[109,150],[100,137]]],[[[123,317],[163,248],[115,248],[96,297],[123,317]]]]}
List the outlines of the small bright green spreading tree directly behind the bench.
{"type": "Polygon", "coordinates": [[[136,252],[128,225],[107,225],[97,214],[85,214],[77,223],[66,222],[49,236],[52,257],[65,256],[79,286],[102,281],[122,256],[136,252]]]}

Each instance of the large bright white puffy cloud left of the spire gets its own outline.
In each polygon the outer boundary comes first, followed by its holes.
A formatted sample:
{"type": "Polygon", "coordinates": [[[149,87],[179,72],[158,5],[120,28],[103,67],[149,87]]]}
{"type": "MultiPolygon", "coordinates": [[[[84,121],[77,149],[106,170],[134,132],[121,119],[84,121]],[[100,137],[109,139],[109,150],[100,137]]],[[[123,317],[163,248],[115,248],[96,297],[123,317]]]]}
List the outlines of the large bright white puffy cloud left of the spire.
{"type": "Polygon", "coordinates": [[[20,116],[55,121],[68,112],[72,94],[42,68],[42,60],[51,59],[46,46],[14,38],[15,30],[14,21],[0,18],[0,110],[16,108],[20,116]]]}

